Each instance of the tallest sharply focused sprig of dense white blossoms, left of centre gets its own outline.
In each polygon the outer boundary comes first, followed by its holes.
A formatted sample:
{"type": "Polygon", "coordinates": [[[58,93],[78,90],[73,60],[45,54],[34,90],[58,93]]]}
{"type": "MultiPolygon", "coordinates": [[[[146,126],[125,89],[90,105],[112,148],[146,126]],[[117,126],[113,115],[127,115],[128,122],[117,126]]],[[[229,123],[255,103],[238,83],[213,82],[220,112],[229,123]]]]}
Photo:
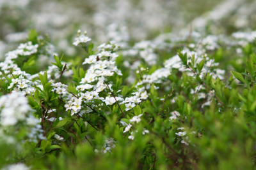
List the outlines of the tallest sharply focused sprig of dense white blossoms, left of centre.
{"type": "MultiPolygon", "coordinates": [[[[77,44],[80,40],[77,39],[75,43],[77,44]]],[[[106,103],[106,105],[114,104],[116,101],[123,101],[122,97],[100,97],[100,92],[104,90],[106,90],[105,92],[109,92],[109,90],[112,90],[111,83],[108,82],[108,85],[106,85],[108,77],[113,76],[114,73],[122,75],[121,71],[115,65],[115,59],[118,55],[114,51],[117,49],[118,45],[111,41],[108,45],[102,44],[98,46],[97,53],[90,55],[84,60],[83,64],[91,64],[91,66],[86,71],[80,85],[76,87],[78,91],[77,96],[70,93],[63,96],[64,101],[66,101],[65,108],[71,111],[71,115],[92,111],[88,110],[86,105],[90,103],[91,106],[94,106],[94,99],[99,99],[106,103]],[[86,92],[84,92],[85,90],[86,92]]]]}

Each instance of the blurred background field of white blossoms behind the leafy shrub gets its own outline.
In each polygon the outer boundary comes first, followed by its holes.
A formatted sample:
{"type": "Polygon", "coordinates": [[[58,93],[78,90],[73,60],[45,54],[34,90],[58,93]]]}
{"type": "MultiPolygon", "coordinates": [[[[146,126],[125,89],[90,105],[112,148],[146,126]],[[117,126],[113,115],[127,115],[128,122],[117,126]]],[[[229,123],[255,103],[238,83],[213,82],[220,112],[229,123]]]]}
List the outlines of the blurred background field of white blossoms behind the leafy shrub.
{"type": "MultiPolygon", "coordinates": [[[[58,51],[70,47],[76,30],[86,30],[99,43],[134,43],[161,36],[232,34],[253,31],[253,0],[1,0],[0,54],[27,38],[29,29],[48,34],[58,51]],[[167,34],[168,33],[168,34],[167,34]],[[12,46],[13,45],[13,46],[12,46]]],[[[170,38],[170,37],[169,37],[170,38]]]]}

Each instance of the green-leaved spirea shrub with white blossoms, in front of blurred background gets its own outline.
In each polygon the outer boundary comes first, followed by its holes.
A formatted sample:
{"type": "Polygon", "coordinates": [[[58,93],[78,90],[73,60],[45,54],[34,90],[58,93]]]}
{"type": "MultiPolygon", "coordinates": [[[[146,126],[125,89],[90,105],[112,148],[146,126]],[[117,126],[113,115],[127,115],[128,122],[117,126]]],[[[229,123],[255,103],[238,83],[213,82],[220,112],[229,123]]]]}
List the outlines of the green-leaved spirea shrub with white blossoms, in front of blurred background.
{"type": "Polygon", "coordinates": [[[254,169],[254,35],[78,31],[70,57],[31,30],[0,62],[0,168],[254,169]]]}

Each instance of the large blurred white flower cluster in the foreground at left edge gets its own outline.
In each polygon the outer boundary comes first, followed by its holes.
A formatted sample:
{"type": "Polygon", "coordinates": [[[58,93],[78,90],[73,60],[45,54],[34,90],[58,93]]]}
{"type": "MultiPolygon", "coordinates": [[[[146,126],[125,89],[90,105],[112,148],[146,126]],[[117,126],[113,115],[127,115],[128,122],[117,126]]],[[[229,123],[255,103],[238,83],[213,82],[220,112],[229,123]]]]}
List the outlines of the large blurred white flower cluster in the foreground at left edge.
{"type": "Polygon", "coordinates": [[[37,139],[44,139],[40,120],[33,116],[28,100],[22,92],[1,96],[0,108],[2,128],[16,129],[15,131],[19,131],[20,127],[28,128],[29,141],[36,142],[37,139]]]}

